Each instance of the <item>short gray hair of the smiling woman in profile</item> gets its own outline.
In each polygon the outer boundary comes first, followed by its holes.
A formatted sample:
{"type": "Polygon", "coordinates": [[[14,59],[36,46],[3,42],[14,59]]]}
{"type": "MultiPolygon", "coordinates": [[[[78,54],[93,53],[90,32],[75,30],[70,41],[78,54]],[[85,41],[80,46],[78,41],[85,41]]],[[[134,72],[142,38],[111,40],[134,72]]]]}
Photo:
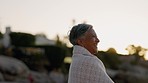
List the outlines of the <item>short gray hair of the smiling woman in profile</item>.
{"type": "Polygon", "coordinates": [[[78,24],[72,27],[69,34],[69,41],[73,45],[77,45],[76,40],[81,37],[89,28],[92,28],[89,24],[78,24]]]}

